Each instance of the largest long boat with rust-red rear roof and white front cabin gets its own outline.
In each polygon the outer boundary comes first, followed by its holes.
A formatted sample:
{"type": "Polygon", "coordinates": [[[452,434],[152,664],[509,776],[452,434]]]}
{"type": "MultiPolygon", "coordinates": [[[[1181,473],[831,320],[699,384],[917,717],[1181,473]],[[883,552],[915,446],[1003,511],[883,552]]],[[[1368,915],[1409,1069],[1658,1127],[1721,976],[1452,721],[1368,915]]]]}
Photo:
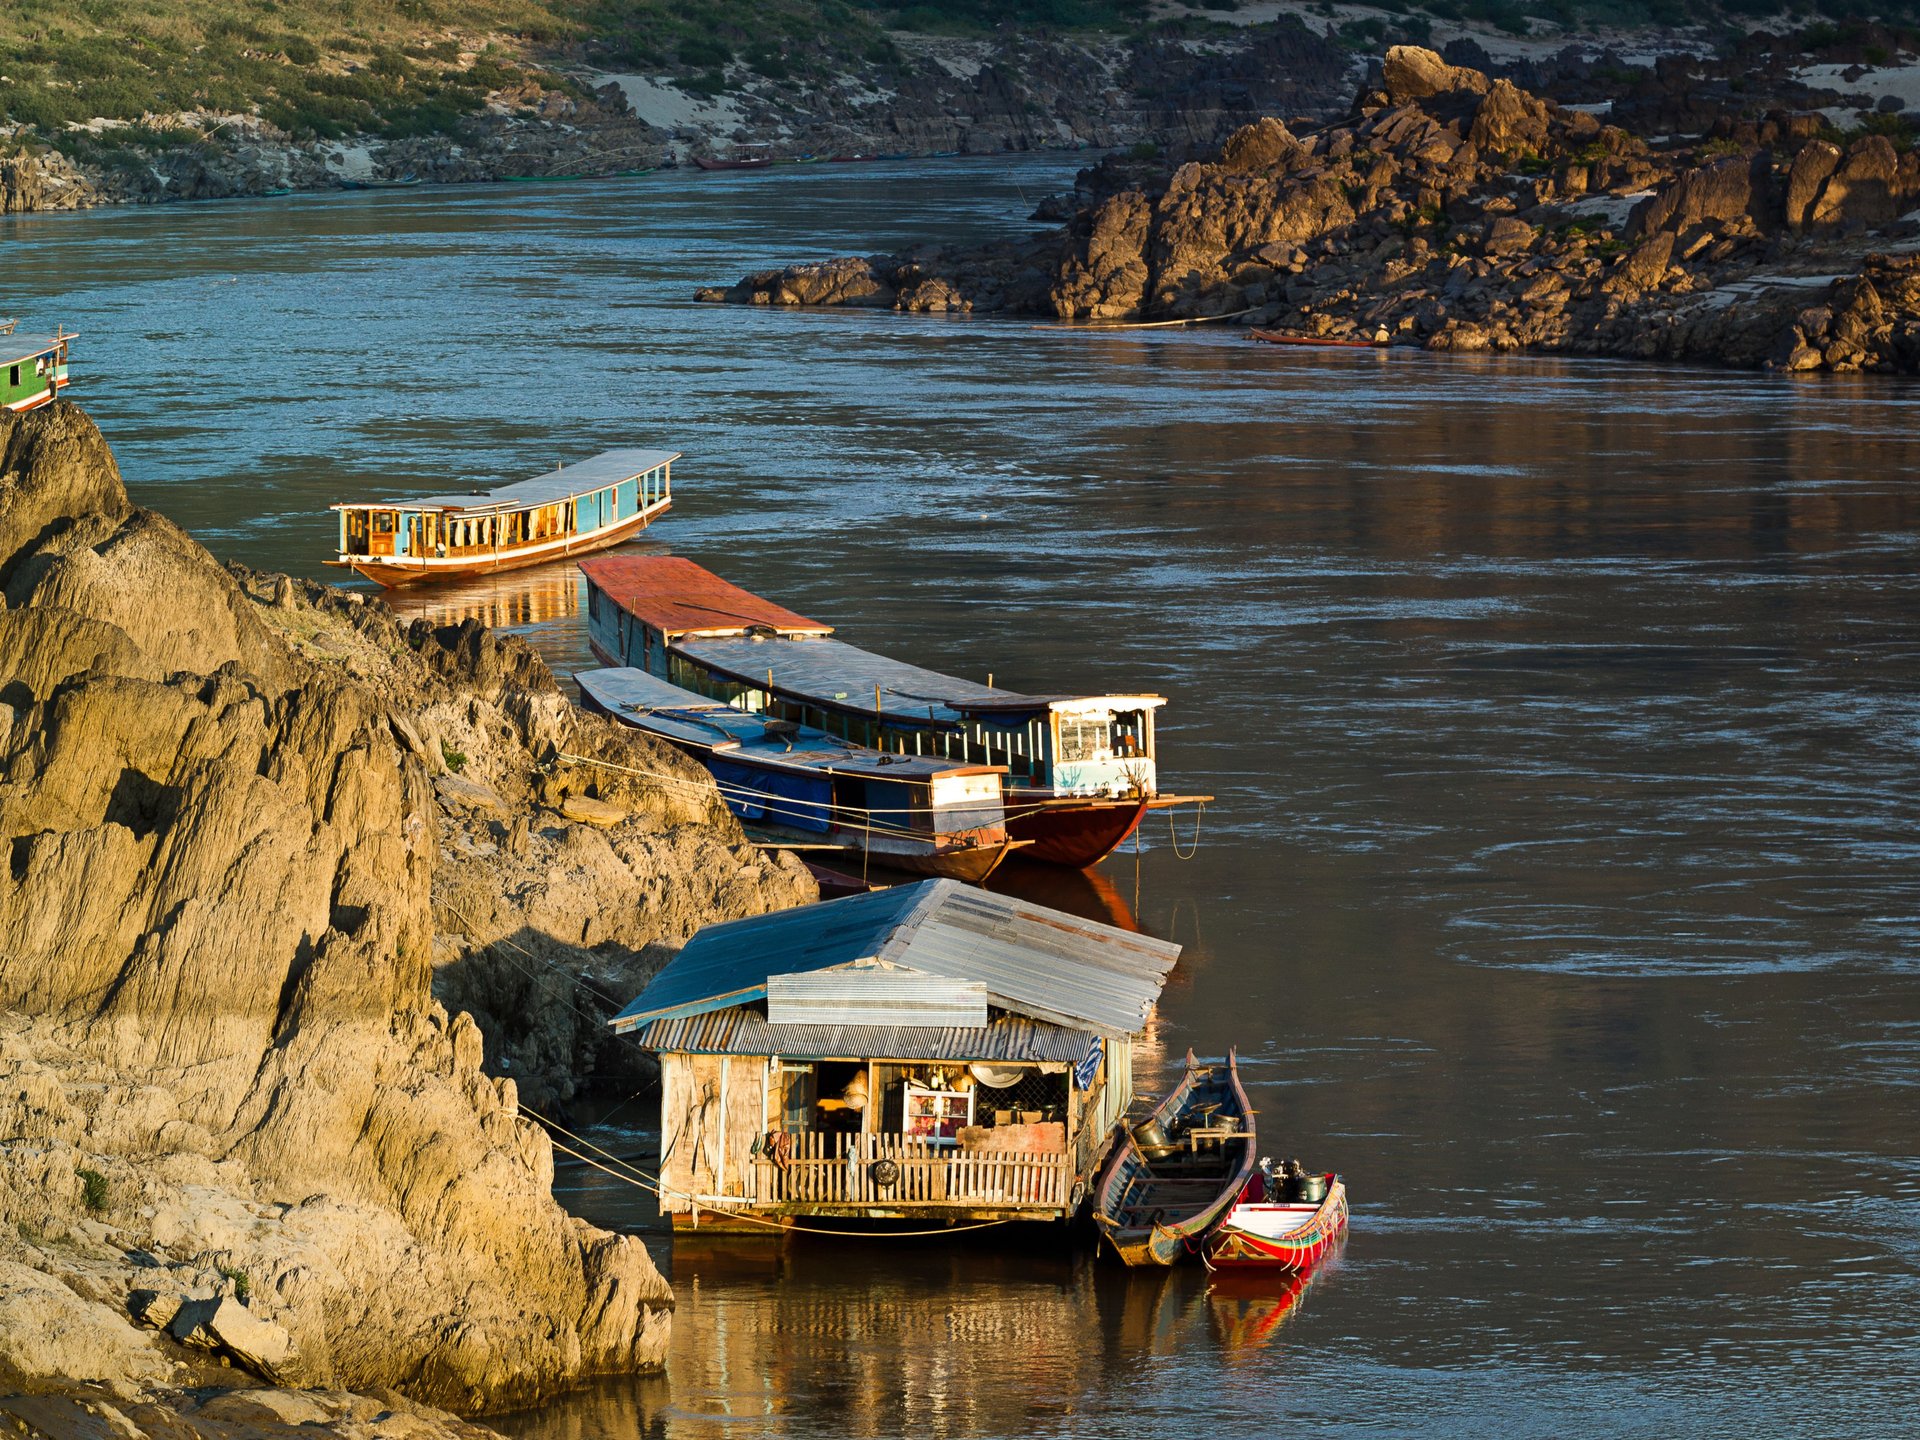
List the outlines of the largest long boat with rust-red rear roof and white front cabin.
{"type": "Polygon", "coordinates": [[[1162,795],[1160,695],[1023,695],[889,660],[676,555],[584,561],[588,641],[612,666],[814,726],[895,755],[1004,766],[1021,858],[1075,870],[1140,818],[1204,795],[1162,795]]]}

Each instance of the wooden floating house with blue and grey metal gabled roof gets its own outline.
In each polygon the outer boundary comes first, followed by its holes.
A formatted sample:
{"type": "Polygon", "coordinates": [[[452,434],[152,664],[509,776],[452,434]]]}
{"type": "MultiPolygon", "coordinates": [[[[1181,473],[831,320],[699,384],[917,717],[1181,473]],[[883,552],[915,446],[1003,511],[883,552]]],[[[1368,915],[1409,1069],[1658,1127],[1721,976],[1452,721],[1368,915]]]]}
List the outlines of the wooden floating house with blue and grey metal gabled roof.
{"type": "Polygon", "coordinates": [[[952,879],[708,925],[612,1020],[660,1056],[660,1210],[1068,1219],[1177,958],[952,879]]]}

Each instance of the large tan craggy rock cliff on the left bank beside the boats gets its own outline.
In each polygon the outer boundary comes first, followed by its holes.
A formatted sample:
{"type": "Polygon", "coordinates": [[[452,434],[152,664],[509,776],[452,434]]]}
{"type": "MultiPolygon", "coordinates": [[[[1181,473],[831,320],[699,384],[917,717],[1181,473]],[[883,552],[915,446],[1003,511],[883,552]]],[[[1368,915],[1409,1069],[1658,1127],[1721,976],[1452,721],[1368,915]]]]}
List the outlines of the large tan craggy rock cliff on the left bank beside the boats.
{"type": "Polygon", "coordinates": [[[568,947],[637,952],[804,872],[524,647],[228,574],[129,503],[73,405],[0,413],[0,1388],[192,1419],[182,1386],[252,1371],[484,1411],[659,1363],[666,1284],[553,1202],[436,960],[516,925],[595,964],[568,947]],[[503,852],[591,877],[526,908],[501,881],[449,943],[445,893],[490,862],[447,858],[480,849],[472,795],[503,852]]]}

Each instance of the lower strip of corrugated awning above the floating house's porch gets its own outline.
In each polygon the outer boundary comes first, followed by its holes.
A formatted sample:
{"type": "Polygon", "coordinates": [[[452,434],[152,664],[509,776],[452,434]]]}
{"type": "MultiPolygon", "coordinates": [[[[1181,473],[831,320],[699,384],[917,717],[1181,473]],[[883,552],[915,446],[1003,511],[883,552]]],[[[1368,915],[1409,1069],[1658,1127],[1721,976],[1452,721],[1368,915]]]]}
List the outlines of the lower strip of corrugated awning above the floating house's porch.
{"type": "Polygon", "coordinates": [[[685,1020],[651,1020],[634,1031],[649,1050],[674,1054],[778,1054],[787,1060],[1018,1060],[1079,1064],[1087,1031],[1004,1016],[979,1027],[772,1025],[730,1006],[685,1020]]]}

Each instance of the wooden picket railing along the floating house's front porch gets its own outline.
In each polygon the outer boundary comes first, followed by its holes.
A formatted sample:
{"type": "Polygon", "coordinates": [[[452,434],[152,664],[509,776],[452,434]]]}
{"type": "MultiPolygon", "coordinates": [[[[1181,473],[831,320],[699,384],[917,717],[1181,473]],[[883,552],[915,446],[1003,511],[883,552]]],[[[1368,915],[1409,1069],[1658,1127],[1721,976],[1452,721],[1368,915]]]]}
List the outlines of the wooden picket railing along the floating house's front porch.
{"type": "Polygon", "coordinates": [[[755,1156],[753,1204],[1064,1210],[1073,1188],[1064,1150],[964,1150],[904,1135],[829,1133],[793,1135],[791,1144],[781,1164],[755,1156]]]}

